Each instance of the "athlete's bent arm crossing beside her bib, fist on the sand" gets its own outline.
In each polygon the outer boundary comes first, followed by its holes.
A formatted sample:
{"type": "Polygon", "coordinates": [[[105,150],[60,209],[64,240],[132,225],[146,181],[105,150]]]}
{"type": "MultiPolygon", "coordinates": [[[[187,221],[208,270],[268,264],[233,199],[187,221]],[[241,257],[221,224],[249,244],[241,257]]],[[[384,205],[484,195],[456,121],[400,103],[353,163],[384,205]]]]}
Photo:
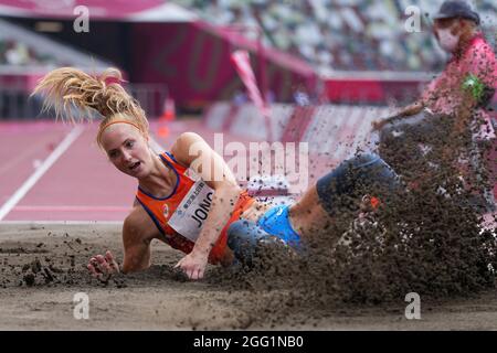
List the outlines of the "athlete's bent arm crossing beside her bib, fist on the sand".
{"type": "Polygon", "coordinates": [[[214,190],[212,205],[193,250],[177,265],[189,278],[203,277],[209,254],[228,223],[241,189],[223,158],[197,133],[184,132],[171,152],[176,160],[195,171],[214,190]]]}

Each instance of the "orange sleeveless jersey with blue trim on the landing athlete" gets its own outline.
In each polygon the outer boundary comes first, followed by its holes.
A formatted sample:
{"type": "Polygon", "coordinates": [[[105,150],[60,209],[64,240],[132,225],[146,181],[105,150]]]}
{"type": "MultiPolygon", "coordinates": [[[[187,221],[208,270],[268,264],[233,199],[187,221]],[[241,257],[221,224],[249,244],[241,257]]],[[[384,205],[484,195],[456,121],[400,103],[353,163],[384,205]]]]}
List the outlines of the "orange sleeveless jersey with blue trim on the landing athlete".
{"type": "MultiPolygon", "coordinates": [[[[214,191],[189,168],[178,163],[172,154],[165,152],[160,158],[176,173],[177,182],[172,192],[166,197],[156,197],[138,186],[136,199],[163,235],[166,243],[189,254],[208,217],[214,191]]],[[[240,220],[242,212],[253,202],[254,199],[246,191],[240,194],[229,222],[211,250],[211,264],[218,264],[223,258],[229,226],[240,220]]]]}

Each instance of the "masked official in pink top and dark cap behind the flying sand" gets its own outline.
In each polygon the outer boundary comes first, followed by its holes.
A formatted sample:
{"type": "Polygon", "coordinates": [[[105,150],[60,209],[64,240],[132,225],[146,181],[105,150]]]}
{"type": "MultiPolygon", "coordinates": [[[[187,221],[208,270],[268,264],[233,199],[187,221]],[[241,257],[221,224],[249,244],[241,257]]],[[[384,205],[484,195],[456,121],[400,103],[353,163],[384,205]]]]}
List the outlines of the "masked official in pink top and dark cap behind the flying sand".
{"type": "Polygon", "coordinates": [[[376,128],[395,119],[415,116],[427,109],[435,115],[477,114],[488,125],[480,138],[495,138],[486,106],[497,85],[497,60],[479,30],[479,15],[466,2],[445,1],[434,17],[433,33],[440,46],[451,54],[445,69],[433,79],[421,97],[376,128]]]}

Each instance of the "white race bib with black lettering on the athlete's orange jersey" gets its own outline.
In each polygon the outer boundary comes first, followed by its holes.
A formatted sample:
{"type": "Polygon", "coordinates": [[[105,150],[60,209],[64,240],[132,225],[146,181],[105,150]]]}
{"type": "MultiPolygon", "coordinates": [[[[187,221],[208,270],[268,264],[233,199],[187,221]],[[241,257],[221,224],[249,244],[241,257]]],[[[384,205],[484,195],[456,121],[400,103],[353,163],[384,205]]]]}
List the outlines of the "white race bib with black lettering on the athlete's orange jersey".
{"type": "Polygon", "coordinates": [[[169,226],[195,243],[211,210],[213,195],[214,191],[198,180],[169,218],[169,226]]]}

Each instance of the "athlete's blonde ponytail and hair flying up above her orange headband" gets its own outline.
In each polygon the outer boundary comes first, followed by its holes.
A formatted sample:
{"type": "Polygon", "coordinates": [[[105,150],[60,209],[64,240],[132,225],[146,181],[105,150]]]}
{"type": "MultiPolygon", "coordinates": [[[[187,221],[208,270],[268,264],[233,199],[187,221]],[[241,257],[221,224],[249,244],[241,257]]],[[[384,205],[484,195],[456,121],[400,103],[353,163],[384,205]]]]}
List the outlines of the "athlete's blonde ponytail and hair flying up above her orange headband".
{"type": "Polygon", "coordinates": [[[107,68],[97,77],[75,67],[61,67],[46,74],[34,88],[32,95],[45,96],[43,111],[54,108],[56,118],[75,122],[91,119],[92,111],[98,113],[101,121],[97,143],[102,147],[101,135],[117,122],[136,127],[148,139],[148,120],[139,103],[119,84],[123,76],[117,68],[107,68]],[[110,79],[110,83],[107,81],[110,79]],[[81,113],[73,115],[76,107],[81,113]]]}

